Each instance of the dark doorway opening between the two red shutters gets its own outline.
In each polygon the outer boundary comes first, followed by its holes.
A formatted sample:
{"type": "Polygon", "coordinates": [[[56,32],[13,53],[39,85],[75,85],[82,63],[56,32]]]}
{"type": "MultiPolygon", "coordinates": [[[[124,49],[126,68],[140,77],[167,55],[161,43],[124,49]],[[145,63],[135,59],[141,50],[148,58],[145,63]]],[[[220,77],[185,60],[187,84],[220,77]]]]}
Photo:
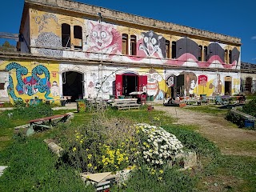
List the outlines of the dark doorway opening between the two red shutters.
{"type": "Polygon", "coordinates": [[[138,75],[136,74],[123,74],[122,75],[122,94],[129,96],[131,92],[138,91],[138,75]]]}

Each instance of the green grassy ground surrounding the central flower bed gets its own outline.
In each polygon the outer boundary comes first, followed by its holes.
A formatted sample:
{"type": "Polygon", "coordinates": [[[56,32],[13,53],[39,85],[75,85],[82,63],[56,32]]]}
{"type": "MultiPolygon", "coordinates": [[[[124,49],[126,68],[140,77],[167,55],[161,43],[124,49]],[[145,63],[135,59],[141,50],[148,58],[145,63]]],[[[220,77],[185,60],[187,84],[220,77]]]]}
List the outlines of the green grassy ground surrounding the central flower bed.
{"type": "MultiPolygon", "coordinates": [[[[222,114],[226,110],[214,109],[211,106],[190,108],[203,113],[222,114]]],[[[70,110],[53,111],[62,114],[70,110]]],[[[97,114],[77,113],[68,129],[75,129],[88,123],[97,114]]],[[[122,191],[255,191],[256,159],[245,156],[226,156],[219,153],[213,142],[209,142],[194,130],[197,126],[171,125],[175,119],[164,112],[152,110],[109,110],[109,117],[130,118],[133,122],[147,122],[162,126],[175,134],[190,150],[198,153],[198,166],[184,172],[177,169],[166,170],[161,181],[146,170],[134,172],[133,177],[122,187],[122,191]],[[160,121],[161,119],[161,121],[160,121]],[[143,178],[143,179],[142,179],[143,178]]],[[[6,114],[0,119],[8,120],[6,114]]],[[[1,121],[1,120],[0,120],[1,121]]],[[[0,191],[94,191],[86,188],[78,178],[77,170],[62,163],[51,154],[42,140],[44,138],[62,138],[67,127],[59,126],[35,134],[31,138],[16,136],[13,138],[13,127],[25,124],[26,118],[14,118],[5,122],[0,129],[0,165],[10,166],[0,178],[0,191]],[[2,144],[2,141],[7,142],[2,144]]],[[[254,143],[238,143],[242,147],[254,148],[254,143]]],[[[120,191],[113,188],[111,191],[120,191]]]]}

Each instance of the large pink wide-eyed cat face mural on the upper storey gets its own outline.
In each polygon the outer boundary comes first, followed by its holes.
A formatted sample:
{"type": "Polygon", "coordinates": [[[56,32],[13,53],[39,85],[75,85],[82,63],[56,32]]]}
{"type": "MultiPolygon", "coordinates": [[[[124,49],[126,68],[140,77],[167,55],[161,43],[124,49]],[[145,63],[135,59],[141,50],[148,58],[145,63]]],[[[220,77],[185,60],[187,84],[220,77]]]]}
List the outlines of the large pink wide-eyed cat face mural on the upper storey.
{"type": "Polygon", "coordinates": [[[102,53],[106,57],[113,57],[112,54],[121,53],[121,35],[118,30],[114,29],[114,26],[103,23],[94,24],[93,22],[89,22],[89,26],[89,49],[86,56],[90,56],[90,52],[91,54],[102,53]]]}

